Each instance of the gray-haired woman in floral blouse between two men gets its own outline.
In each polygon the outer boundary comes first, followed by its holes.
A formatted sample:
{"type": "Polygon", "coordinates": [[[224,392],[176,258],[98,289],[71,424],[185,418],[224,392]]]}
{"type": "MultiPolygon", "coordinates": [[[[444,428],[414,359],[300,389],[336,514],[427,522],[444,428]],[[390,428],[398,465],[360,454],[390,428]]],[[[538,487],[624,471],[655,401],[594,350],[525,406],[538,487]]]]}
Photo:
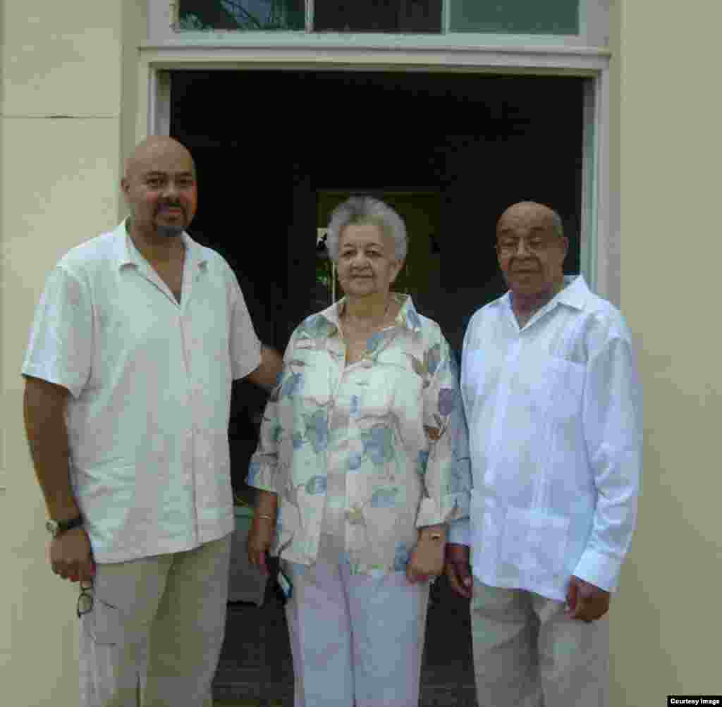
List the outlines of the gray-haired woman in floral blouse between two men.
{"type": "Polygon", "coordinates": [[[262,572],[279,555],[292,585],[295,707],[415,707],[429,580],[469,509],[456,363],[438,324],[391,292],[399,214],[349,199],[327,245],[345,296],[288,344],[248,474],[248,555],[262,572]]]}

